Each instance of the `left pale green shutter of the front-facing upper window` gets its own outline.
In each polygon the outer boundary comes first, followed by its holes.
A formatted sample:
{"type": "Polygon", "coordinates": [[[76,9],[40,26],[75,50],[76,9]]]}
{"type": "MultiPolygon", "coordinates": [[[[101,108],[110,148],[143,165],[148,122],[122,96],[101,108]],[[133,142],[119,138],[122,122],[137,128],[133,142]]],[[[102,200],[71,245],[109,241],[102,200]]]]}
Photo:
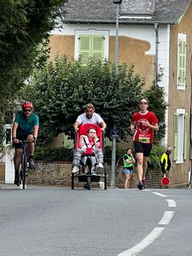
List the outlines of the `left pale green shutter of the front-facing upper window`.
{"type": "Polygon", "coordinates": [[[79,36],[79,56],[81,57],[82,63],[86,64],[90,58],[90,45],[91,37],[90,36],[79,36]]]}

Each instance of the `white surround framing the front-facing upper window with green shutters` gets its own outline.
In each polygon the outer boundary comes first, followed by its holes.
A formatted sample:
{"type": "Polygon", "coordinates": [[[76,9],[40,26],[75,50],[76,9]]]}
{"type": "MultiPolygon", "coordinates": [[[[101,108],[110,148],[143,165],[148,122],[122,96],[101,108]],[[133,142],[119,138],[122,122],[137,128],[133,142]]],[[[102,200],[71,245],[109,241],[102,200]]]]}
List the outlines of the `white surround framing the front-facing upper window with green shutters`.
{"type": "Polygon", "coordinates": [[[96,30],[96,29],[88,29],[88,30],[75,30],[75,49],[74,49],[74,59],[79,59],[79,37],[80,35],[96,35],[102,36],[105,38],[104,40],[104,58],[108,59],[108,40],[109,40],[109,31],[108,30],[96,30]]]}

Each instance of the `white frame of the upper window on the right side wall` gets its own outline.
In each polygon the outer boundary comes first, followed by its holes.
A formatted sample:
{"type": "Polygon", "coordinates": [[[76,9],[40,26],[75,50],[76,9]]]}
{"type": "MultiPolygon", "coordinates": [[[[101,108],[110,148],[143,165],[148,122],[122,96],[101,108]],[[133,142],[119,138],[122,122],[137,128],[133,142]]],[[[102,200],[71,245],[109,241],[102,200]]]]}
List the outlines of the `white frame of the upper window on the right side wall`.
{"type": "Polygon", "coordinates": [[[178,33],[178,36],[177,36],[177,90],[185,90],[185,87],[186,87],[186,52],[187,52],[186,42],[187,42],[186,34],[178,33]],[[185,44],[184,54],[180,53],[180,47],[182,46],[180,46],[179,42],[182,42],[182,44],[185,44]],[[182,81],[182,83],[179,83],[181,81],[181,78],[179,77],[181,70],[183,73],[184,81],[182,81]]]}

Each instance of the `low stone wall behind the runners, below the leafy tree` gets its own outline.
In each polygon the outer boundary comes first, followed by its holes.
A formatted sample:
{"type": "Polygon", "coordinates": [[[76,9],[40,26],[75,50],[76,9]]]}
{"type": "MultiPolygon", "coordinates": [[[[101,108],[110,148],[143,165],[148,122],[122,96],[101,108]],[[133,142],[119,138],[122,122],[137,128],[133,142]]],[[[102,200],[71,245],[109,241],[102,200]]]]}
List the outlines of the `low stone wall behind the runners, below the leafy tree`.
{"type": "MultiPolygon", "coordinates": [[[[27,177],[27,183],[33,184],[46,184],[46,185],[62,185],[65,187],[71,186],[71,162],[37,162],[36,170],[30,171],[27,177]]],[[[123,167],[118,166],[115,178],[115,186],[118,188],[124,188],[125,175],[123,173],[123,167]]],[[[110,174],[111,166],[107,166],[108,172],[108,187],[110,186],[110,174]]],[[[160,188],[161,173],[160,170],[150,172],[147,176],[148,188],[160,188]]],[[[133,177],[131,178],[131,188],[137,188],[137,171],[134,170],[133,177]]],[[[94,183],[91,185],[94,186],[94,183]]],[[[95,183],[97,186],[97,183],[95,183]]],[[[75,186],[82,186],[75,179],[75,186]]]]}

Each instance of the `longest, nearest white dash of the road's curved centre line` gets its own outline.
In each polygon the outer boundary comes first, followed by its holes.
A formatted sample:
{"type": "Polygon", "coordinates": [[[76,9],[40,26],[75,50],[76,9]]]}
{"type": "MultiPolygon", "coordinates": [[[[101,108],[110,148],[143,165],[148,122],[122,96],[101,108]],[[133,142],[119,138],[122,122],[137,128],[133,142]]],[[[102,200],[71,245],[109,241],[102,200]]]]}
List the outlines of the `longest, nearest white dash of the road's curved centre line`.
{"type": "Polygon", "coordinates": [[[138,253],[142,252],[145,247],[148,247],[155,239],[157,239],[161,232],[165,228],[154,228],[154,230],[151,231],[151,233],[146,236],[143,241],[140,241],[135,247],[131,247],[131,249],[119,253],[118,256],[134,256],[137,255],[138,253]]]}

